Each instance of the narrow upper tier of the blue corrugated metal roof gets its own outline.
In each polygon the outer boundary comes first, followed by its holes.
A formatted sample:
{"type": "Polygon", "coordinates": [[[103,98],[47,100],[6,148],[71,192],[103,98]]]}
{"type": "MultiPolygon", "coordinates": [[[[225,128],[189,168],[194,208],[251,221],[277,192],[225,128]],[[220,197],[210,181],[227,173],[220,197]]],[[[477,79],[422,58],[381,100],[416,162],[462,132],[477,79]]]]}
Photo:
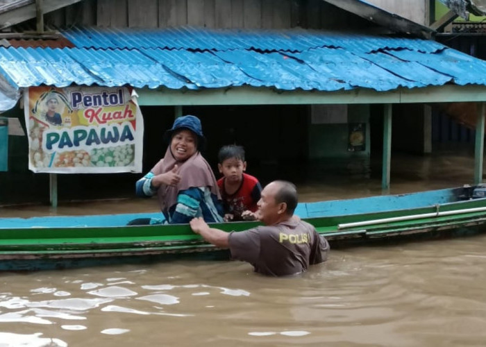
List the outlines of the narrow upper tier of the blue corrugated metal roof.
{"type": "Polygon", "coordinates": [[[94,49],[193,49],[227,51],[306,51],[318,47],[342,47],[358,51],[412,49],[427,53],[444,49],[432,40],[379,37],[301,28],[280,30],[72,28],[62,33],[74,45],[94,49]]]}

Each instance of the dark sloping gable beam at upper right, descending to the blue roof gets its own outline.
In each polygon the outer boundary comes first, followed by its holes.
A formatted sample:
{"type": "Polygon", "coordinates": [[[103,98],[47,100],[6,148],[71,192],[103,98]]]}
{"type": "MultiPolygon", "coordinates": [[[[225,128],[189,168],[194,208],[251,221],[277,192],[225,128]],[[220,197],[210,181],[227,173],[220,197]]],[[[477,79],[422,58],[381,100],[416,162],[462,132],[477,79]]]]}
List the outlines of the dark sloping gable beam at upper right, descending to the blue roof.
{"type": "Polygon", "coordinates": [[[432,28],[422,26],[409,19],[395,15],[370,3],[357,0],[323,0],[342,10],[346,10],[364,19],[385,26],[396,33],[410,33],[419,37],[430,38],[435,32],[432,28]]]}

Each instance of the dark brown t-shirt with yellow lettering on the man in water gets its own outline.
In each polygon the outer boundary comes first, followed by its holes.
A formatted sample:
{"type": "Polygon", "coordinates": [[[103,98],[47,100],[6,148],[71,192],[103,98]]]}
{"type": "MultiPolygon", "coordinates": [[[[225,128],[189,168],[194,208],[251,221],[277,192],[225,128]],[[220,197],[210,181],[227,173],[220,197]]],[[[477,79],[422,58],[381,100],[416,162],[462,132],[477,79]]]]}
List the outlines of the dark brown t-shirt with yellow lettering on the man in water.
{"type": "Polygon", "coordinates": [[[309,265],[325,262],[329,244],[305,221],[291,219],[275,226],[231,232],[231,257],[249,262],[255,272],[270,276],[301,273],[309,265]]]}

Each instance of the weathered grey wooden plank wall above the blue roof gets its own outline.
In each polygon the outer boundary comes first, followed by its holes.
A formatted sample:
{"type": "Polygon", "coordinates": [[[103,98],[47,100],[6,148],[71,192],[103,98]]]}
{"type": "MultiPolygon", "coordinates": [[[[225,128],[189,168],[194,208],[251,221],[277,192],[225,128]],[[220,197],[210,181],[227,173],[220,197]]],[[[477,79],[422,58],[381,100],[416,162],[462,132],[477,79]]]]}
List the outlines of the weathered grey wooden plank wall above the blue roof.
{"type": "Polygon", "coordinates": [[[117,28],[349,28],[364,19],[321,0],[86,0],[46,15],[47,24],[117,28]]]}

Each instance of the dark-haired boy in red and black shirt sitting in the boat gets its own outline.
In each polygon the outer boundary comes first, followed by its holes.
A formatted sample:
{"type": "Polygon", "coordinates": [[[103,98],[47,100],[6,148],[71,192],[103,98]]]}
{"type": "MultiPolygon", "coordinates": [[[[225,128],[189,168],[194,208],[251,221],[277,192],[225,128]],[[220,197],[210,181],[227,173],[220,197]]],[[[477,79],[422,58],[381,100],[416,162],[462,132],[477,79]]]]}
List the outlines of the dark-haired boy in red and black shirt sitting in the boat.
{"type": "Polygon", "coordinates": [[[262,185],[245,174],[244,149],[234,144],[223,146],[218,153],[218,169],[223,174],[217,183],[224,203],[225,221],[252,221],[258,210],[262,185]]]}

